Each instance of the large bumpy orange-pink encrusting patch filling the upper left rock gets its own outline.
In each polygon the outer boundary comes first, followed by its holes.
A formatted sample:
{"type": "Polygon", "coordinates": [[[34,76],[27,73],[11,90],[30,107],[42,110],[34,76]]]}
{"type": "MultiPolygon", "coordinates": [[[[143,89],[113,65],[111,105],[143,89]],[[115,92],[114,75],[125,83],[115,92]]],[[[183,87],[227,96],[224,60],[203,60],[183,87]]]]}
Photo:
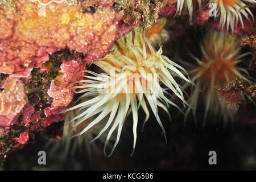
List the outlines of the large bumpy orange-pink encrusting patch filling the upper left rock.
{"type": "Polygon", "coordinates": [[[105,56],[118,38],[123,12],[116,14],[109,3],[100,3],[106,7],[84,13],[80,5],[52,2],[45,15],[38,1],[0,5],[0,72],[26,77],[48,60],[48,53],[67,47],[92,59],[105,56]]]}

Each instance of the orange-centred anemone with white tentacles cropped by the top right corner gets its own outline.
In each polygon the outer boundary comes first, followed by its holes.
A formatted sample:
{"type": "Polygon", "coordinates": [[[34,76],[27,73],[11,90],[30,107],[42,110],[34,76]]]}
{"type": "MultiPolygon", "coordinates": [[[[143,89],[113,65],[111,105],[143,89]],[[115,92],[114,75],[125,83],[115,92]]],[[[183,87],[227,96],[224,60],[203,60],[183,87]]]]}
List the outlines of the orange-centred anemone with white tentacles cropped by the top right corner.
{"type": "Polygon", "coordinates": [[[241,22],[242,28],[244,28],[242,15],[244,15],[245,18],[250,22],[248,13],[251,15],[254,22],[253,14],[251,13],[249,7],[247,7],[247,5],[243,3],[243,1],[249,2],[252,4],[255,4],[256,2],[255,0],[211,0],[210,1],[212,3],[217,3],[216,13],[217,13],[217,16],[220,16],[219,28],[221,27],[221,29],[223,30],[226,24],[227,30],[229,31],[229,26],[230,26],[232,32],[234,32],[235,22],[237,27],[238,19],[241,22]]]}

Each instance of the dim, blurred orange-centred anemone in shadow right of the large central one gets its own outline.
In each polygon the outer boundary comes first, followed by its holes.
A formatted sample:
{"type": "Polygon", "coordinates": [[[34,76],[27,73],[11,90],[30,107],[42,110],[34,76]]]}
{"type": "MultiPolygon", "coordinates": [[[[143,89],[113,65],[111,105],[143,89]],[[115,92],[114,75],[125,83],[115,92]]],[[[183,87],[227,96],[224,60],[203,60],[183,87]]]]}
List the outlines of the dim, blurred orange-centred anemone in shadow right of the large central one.
{"type": "MultiPolygon", "coordinates": [[[[243,73],[247,71],[237,66],[242,58],[249,53],[241,55],[241,46],[237,36],[229,35],[226,32],[208,31],[201,44],[201,59],[193,58],[197,61],[197,67],[189,71],[192,81],[197,88],[191,89],[189,104],[193,108],[193,115],[196,121],[196,108],[198,102],[203,102],[205,111],[203,126],[208,113],[221,117],[226,124],[234,121],[237,110],[235,107],[228,107],[227,102],[220,97],[218,88],[222,88],[232,81],[233,77],[241,77],[247,80],[243,73]],[[200,101],[199,101],[200,100],[200,101]]],[[[248,81],[248,80],[247,80],[248,81]]],[[[187,109],[187,116],[190,108],[187,109]]],[[[186,120],[187,117],[185,117],[186,120]]]]}

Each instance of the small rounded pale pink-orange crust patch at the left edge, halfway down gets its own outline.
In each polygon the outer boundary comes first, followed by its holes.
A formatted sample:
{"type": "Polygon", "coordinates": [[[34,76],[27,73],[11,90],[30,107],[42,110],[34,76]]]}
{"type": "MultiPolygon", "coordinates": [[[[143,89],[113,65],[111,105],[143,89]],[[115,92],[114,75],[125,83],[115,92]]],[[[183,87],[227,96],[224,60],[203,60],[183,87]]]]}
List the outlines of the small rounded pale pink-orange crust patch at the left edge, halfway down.
{"type": "Polygon", "coordinates": [[[1,86],[0,94],[0,127],[10,126],[16,122],[28,98],[23,82],[18,77],[9,76],[1,86]]]}

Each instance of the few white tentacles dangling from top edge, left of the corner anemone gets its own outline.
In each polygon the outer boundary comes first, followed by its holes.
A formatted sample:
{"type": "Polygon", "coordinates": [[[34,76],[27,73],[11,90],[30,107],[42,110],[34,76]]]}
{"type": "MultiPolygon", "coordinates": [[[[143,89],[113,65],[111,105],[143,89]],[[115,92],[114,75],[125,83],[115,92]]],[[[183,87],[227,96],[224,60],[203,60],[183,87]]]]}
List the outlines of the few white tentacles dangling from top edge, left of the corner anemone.
{"type": "MultiPolygon", "coordinates": [[[[197,2],[199,3],[199,10],[201,10],[201,5],[202,5],[201,0],[197,0],[197,2]]],[[[193,1],[192,0],[177,0],[177,10],[176,10],[174,17],[181,15],[184,3],[185,3],[185,5],[187,4],[188,13],[189,13],[189,22],[192,22],[192,13],[193,13],[193,1]]]]}

